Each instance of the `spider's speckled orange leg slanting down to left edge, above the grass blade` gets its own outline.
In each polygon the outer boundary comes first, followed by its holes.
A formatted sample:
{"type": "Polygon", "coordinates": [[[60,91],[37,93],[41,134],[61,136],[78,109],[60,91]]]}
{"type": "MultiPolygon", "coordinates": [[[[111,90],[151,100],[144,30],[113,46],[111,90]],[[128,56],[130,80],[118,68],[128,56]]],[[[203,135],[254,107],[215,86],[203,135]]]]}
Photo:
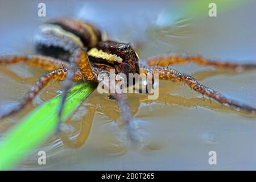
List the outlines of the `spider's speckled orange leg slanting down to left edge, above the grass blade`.
{"type": "MultiPolygon", "coordinates": [[[[0,118],[5,118],[11,114],[18,113],[18,111],[20,111],[25,106],[27,106],[36,97],[36,95],[40,92],[40,90],[42,90],[44,86],[48,84],[49,81],[64,80],[64,78],[67,76],[67,71],[68,71],[67,68],[55,69],[54,71],[51,71],[46,75],[40,77],[39,80],[36,82],[36,84],[31,87],[31,89],[28,91],[28,93],[23,98],[23,100],[19,103],[19,105],[9,110],[7,113],[2,113],[2,115],[0,115],[0,118]]],[[[76,72],[75,76],[73,77],[73,80],[76,82],[81,81],[82,74],[80,72],[76,72]]]]}

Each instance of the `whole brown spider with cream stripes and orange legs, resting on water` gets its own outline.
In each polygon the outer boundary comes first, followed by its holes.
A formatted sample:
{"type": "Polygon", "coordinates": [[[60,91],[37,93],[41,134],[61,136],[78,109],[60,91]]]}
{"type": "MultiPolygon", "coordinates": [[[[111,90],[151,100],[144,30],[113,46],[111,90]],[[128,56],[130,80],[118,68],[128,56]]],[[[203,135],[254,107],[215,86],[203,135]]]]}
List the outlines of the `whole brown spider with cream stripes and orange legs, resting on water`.
{"type": "MultiPolygon", "coordinates": [[[[110,40],[104,41],[102,40],[101,32],[92,24],[73,19],[57,19],[43,24],[39,27],[39,34],[36,35],[36,43],[36,48],[40,53],[51,57],[41,55],[0,57],[0,64],[2,65],[26,63],[51,71],[40,77],[22,102],[14,109],[2,114],[1,118],[23,109],[49,81],[64,80],[58,113],[61,119],[65,98],[73,82],[101,82],[103,80],[98,75],[100,73],[109,73],[111,68],[115,69],[115,74],[144,73],[147,75],[148,73],[158,73],[159,78],[162,80],[183,82],[192,90],[227,107],[241,109],[251,114],[255,114],[256,111],[254,107],[231,100],[221,93],[200,84],[196,78],[170,68],[170,65],[173,64],[193,62],[203,66],[209,65],[216,68],[241,70],[256,68],[255,64],[224,63],[190,55],[153,57],[147,59],[144,63],[140,63],[137,53],[130,44],[110,40]]],[[[115,81],[118,82],[119,80],[116,78],[115,81]]],[[[115,93],[113,98],[119,105],[123,121],[127,126],[132,126],[130,109],[124,94],[115,93]]],[[[129,131],[131,131],[131,127],[129,131]]],[[[130,135],[133,138],[131,132],[130,135]]]]}

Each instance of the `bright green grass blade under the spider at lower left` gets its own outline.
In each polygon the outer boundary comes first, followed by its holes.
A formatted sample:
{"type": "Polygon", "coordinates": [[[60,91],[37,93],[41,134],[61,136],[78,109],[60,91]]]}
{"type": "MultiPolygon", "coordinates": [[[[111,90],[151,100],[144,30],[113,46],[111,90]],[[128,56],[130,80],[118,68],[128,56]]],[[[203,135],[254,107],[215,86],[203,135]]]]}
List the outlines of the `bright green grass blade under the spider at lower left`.
{"type": "MultiPolygon", "coordinates": [[[[71,89],[63,110],[64,120],[96,89],[96,86],[83,82],[71,89]]],[[[8,131],[0,143],[0,170],[13,168],[28,152],[56,131],[59,102],[60,95],[37,107],[8,131]]]]}

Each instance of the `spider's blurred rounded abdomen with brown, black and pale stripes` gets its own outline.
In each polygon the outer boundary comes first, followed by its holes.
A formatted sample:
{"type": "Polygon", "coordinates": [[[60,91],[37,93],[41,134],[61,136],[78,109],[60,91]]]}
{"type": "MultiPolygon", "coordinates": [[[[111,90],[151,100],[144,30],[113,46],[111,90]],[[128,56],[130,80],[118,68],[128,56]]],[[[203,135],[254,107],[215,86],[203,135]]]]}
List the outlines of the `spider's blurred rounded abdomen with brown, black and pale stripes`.
{"type": "Polygon", "coordinates": [[[58,19],[39,26],[35,41],[37,52],[68,61],[76,48],[95,47],[101,41],[101,32],[89,23],[58,19]]]}

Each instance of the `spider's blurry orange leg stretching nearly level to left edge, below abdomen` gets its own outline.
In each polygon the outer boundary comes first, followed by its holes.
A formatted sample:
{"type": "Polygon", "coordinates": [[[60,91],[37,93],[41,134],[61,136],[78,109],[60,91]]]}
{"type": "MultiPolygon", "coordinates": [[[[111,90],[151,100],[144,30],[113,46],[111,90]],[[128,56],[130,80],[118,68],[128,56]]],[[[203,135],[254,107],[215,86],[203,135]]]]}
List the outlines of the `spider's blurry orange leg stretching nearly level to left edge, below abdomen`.
{"type": "Polygon", "coordinates": [[[68,68],[69,64],[61,61],[59,59],[54,59],[48,56],[37,56],[37,55],[28,55],[28,56],[13,56],[13,55],[4,55],[0,56],[0,65],[7,64],[17,64],[17,63],[26,63],[27,65],[32,65],[38,68],[43,68],[47,71],[52,71],[58,68],[68,68]]]}

